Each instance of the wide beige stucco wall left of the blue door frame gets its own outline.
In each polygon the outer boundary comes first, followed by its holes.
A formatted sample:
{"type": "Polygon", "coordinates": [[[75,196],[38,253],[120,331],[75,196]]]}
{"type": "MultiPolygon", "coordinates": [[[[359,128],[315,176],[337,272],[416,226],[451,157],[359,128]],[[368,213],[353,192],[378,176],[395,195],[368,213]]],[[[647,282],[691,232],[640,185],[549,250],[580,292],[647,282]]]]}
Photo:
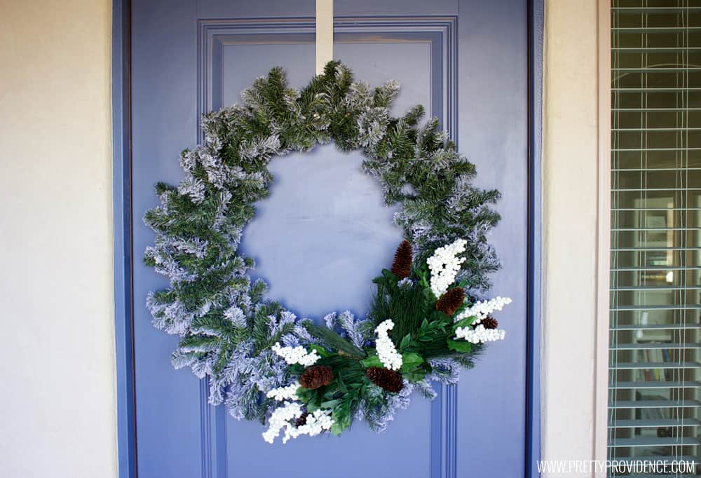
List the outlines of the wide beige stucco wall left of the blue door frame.
{"type": "Polygon", "coordinates": [[[0,1],[0,475],[116,476],[111,3],[0,1]]]}

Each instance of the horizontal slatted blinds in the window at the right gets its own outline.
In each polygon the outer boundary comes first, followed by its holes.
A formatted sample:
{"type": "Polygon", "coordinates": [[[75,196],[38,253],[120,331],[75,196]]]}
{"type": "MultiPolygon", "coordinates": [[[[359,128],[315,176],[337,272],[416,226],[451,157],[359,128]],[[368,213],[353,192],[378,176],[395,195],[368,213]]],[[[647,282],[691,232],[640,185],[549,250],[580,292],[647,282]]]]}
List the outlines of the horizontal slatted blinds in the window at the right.
{"type": "Polygon", "coordinates": [[[611,7],[608,458],[699,463],[701,0],[611,7]]]}

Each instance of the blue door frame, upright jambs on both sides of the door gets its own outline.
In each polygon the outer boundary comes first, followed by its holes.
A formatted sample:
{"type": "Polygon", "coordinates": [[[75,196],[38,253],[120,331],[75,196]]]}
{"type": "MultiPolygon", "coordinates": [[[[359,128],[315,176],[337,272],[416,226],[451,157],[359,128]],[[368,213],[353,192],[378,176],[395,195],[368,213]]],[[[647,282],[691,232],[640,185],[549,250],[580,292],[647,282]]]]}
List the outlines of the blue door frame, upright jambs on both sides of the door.
{"type": "MultiPolygon", "coordinates": [[[[526,477],[540,458],[541,137],[543,0],[528,4],[526,477]]],[[[137,478],[132,259],[131,1],[112,1],[112,186],[118,477],[137,478]]],[[[454,477],[447,477],[454,478],[454,477]]]]}

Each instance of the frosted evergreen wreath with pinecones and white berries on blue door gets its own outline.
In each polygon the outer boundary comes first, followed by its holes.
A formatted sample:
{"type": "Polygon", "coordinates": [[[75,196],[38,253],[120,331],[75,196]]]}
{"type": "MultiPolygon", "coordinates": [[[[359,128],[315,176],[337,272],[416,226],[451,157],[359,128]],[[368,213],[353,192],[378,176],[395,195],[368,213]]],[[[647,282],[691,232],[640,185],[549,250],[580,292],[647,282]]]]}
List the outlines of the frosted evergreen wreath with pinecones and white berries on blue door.
{"type": "Polygon", "coordinates": [[[510,299],[478,300],[498,268],[486,236],[499,193],[471,184],[475,166],[436,118],[419,124],[423,107],[390,115],[398,92],[396,81],[354,81],[340,62],[302,90],[275,68],[242,104],[203,116],[203,143],[180,156],[185,179],[158,183],[161,204],[144,217],[156,232],[144,261],[170,280],[147,306],[156,328],[180,336],[172,364],[207,378],[211,404],[267,422],[267,442],[339,435],[353,418],[382,431],[414,390],[435,397],[433,381],[456,383],[485,342],[504,337],[491,314],[510,299]],[[265,299],[238,245],[268,196],[271,158],[331,141],[362,150],[362,170],[400,207],[405,240],[374,280],[367,317],[330,313],[319,325],[265,299]]]}

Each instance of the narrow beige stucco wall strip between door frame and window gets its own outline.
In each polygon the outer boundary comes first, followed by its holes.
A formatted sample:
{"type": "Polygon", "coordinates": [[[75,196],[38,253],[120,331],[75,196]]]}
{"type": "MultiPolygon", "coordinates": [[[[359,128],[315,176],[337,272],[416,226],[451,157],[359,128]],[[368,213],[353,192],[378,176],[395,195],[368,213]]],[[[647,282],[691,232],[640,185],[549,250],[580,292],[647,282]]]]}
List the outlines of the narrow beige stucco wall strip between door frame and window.
{"type": "Polygon", "coordinates": [[[594,458],[597,22],[597,1],[545,1],[541,397],[552,460],[594,458]]]}

